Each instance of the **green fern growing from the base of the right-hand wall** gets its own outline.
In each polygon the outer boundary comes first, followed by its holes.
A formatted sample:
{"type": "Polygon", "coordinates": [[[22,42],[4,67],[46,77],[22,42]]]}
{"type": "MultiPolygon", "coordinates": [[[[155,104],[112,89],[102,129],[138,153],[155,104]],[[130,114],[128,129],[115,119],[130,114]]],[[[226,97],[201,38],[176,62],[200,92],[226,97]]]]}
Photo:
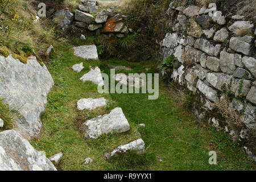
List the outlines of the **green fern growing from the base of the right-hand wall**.
{"type": "Polygon", "coordinates": [[[163,61],[163,63],[160,63],[158,68],[163,71],[164,73],[167,73],[168,80],[170,80],[172,72],[174,69],[179,68],[179,61],[177,60],[177,57],[174,56],[174,54],[166,57],[166,59],[163,61]]]}

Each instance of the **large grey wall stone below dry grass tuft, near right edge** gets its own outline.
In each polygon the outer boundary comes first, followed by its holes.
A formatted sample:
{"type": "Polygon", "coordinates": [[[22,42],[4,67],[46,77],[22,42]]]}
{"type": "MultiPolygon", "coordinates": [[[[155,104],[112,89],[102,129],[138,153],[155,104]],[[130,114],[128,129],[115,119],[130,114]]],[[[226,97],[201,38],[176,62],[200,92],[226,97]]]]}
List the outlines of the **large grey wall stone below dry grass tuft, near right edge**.
{"type": "Polygon", "coordinates": [[[250,56],[251,44],[243,41],[240,37],[232,37],[229,42],[229,47],[236,52],[243,53],[246,56],[250,56]]]}

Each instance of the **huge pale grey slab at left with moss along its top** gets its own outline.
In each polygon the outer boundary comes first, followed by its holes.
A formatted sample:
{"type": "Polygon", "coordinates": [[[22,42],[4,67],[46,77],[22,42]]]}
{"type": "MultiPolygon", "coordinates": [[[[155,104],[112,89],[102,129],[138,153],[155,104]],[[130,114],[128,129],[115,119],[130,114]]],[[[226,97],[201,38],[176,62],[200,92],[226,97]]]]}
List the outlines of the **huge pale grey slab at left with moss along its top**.
{"type": "Polygon", "coordinates": [[[44,113],[47,94],[53,86],[52,76],[35,56],[21,63],[13,56],[0,56],[0,98],[22,116],[15,123],[24,137],[39,137],[42,131],[40,116],[44,113]]]}

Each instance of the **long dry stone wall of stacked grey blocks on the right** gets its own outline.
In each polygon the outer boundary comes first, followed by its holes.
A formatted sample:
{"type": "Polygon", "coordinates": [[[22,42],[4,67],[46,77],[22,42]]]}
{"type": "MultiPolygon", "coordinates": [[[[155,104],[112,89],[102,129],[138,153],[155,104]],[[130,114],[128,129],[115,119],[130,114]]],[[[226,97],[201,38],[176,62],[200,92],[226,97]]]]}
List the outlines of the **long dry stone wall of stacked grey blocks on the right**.
{"type": "Polygon", "coordinates": [[[160,47],[163,60],[174,54],[180,62],[180,67],[172,73],[173,80],[191,90],[197,102],[207,108],[195,106],[199,119],[242,141],[246,152],[255,156],[255,137],[251,135],[256,130],[256,30],[253,22],[241,15],[228,18],[218,11],[215,3],[187,8],[171,3],[167,15],[171,32],[160,42],[160,47]],[[244,30],[248,33],[238,36],[238,32],[244,30]],[[233,98],[234,109],[242,113],[243,127],[229,126],[217,113],[216,117],[208,115],[207,110],[213,109],[210,104],[223,100],[227,92],[233,98]]]}

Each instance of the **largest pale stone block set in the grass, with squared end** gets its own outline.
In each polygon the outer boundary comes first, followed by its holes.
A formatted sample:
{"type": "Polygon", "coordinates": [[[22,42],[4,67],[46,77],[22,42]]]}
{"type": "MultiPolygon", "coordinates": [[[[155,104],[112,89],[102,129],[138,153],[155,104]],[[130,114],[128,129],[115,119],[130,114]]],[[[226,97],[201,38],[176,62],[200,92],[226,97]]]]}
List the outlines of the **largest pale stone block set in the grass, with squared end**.
{"type": "Polygon", "coordinates": [[[109,114],[89,119],[80,127],[85,138],[96,139],[101,134],[123,133],[130,130],[130,125],[120,107],[116,107],[109,114]]]}

